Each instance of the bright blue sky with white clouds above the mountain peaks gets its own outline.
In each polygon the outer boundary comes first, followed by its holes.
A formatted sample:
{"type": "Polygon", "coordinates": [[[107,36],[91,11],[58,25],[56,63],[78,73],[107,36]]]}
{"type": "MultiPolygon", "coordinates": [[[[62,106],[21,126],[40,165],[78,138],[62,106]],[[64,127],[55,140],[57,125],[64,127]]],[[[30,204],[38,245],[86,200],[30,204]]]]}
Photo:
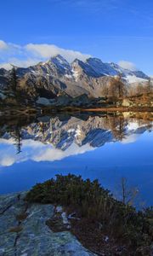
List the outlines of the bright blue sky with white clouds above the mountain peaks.
{"type": "Polygon", "coordinates": [[[152,10],[151,0],[2,0],[1,66],[28,66],[59,51],[70,61],[80,53],[130,61],[153,74],[152,10]]]}

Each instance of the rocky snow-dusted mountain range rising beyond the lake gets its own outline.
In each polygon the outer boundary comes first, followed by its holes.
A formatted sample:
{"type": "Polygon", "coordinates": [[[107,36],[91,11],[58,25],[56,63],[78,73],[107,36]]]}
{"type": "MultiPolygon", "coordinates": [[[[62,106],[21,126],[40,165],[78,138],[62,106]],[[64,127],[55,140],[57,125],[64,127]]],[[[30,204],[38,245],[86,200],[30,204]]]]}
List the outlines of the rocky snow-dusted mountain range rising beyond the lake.
{"type": "MultiPolygon", "coordinates": [[[[97,58],[69,63],[61,55],[32,67],[16,67],[16,73],[20,78],[20,91],[25,91],[34,101],[57,96],[98,98],[104,96],[103,88],[117,75],[122,76],[127,85],[146,83],[150,79],[141,71],[125,69],[116,63],[104,63],[97,58]]],[[[9,85],[9,77],[10,71],[1,68],[1,90],[9,85]]]]}

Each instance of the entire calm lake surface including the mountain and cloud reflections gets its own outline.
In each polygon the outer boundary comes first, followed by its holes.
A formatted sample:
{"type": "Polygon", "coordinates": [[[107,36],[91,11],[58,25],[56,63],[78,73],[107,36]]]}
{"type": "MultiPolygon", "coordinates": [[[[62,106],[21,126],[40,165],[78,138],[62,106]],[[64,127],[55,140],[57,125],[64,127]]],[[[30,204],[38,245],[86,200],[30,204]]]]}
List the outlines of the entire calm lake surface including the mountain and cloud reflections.
{"type": "Polygon", "coordinates": [[[153,205],[151,119],[151,113],[1,119],[0,194],[74,173],[99,179],[118,199],[126,178],[127,190],[138,192],[135,203],[153,205]]]}

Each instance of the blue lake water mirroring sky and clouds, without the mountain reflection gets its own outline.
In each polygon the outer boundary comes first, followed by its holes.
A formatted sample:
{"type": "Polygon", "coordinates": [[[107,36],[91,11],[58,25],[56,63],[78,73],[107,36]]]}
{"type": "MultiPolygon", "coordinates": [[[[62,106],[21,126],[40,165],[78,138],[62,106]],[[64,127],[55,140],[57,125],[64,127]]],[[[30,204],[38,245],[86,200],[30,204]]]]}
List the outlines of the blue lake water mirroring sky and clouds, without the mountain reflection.
{"type": "Polygon", "coordinates": [[[37,137],[24,138],[20,154],[16,154],[12,137],[5,135],[0,140],[0,194],[30,189],[58,173],[74,173],[99,179],[117,198],[125,177],[127,189],[139,191],[137,204],[153,205],[153,132],[137,131],[138,127],[126,139],[108,140],[99,147],[91,146],[91,142],[78,146],[73,137],[65,150],[53,143],[42,143],[37,137]]]}

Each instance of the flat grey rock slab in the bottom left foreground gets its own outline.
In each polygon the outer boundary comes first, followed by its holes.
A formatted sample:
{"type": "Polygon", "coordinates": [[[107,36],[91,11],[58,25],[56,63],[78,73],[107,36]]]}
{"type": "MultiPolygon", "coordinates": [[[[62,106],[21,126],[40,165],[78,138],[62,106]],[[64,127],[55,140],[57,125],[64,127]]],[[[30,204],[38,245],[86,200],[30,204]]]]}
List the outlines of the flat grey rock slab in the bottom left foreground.
{"type": "Polygon", "coordinates": [[[46,225],[54,206],[24,201],[26,193],[0,196],[0,256],[93,256],[71,232],[46,225]]]}

